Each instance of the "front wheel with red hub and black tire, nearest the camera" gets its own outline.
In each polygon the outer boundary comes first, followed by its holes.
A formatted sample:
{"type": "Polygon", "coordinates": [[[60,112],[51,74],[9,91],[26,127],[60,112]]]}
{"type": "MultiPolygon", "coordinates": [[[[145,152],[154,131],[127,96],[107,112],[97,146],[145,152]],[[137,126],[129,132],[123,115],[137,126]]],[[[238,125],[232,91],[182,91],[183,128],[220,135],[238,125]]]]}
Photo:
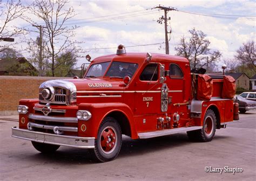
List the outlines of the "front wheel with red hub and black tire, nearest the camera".
{"type": "Polygon", "coordinates": [[[122,146],[120,125],[113,117],[105,117],[99,126],[93,155],[99,162],[109,162],[117,157],[122,146]]]}

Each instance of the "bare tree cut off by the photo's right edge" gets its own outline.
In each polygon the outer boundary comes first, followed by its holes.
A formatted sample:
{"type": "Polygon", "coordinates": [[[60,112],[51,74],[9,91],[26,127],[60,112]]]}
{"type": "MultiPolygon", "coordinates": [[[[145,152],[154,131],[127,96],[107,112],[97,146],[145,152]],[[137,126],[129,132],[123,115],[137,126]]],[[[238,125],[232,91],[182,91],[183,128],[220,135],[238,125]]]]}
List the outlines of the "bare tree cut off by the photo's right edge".
{"type": "Polygon", "coordinates": [[[255,45],[254,41],[247,41],[247,43],[242,44],[237,50],[237,54],[234,56],[237,60],[241,61],[245,65],[256,66],[256,55],[255,55],[255,45]]]}

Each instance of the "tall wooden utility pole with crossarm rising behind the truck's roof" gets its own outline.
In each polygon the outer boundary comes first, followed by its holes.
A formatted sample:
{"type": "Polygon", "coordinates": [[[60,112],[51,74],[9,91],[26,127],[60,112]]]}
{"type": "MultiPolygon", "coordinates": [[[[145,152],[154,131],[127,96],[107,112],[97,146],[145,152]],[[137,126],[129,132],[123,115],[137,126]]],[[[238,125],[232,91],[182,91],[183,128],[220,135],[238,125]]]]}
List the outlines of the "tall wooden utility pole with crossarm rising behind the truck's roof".
{"type": "MultiPolygon", "coordinates": [[[[161,10],[164,10],[164,16],[162,16],[161,18],[159,18],[159,20],[157,20],[157,22],[159,24],[162,24],[163,23],[163,20],[164,20],[164,28],[165,28],[165,53],[166,54],[169,54],[169,41],[168,41],[168,30],[167,30],[167,21],[168,20],[171,20],[171,17],[167,18],[167,13],[168,11],[178,11],[176,8],[170,8],[169,7],[165,7],[165,6],[157,6],[156,8],[158,9],[161,9],[161,10]]],[[[171,31],[170,31],[171,33],[171,31]]]]}

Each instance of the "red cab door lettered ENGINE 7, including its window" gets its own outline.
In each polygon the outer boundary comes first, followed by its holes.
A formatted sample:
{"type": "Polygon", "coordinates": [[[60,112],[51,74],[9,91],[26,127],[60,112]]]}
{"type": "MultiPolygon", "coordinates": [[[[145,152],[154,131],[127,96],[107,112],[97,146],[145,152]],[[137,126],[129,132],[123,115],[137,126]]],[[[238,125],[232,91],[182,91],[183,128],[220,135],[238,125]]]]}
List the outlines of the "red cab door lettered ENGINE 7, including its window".
{"type": "Polygon", "coordinates": [[[159,64],[149,63],[137,76],[134,93],[134,121],[138,133],[155,131],[157,117],[161,112],[161,84],[159,64]]]}

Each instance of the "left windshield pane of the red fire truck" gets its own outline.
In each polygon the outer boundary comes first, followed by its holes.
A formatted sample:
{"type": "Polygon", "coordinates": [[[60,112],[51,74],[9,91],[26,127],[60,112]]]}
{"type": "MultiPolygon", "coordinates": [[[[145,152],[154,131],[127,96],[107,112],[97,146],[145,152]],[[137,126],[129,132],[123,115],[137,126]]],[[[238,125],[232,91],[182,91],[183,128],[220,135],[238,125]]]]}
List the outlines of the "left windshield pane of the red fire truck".
{"type": "Polygon", "coordinates": [[[87,74],[85,75],[85,77],[103,76],[109,64],[110,64],[110,61],[99,63],[99,64],[93,64],[90,67],[87,74]]]}

